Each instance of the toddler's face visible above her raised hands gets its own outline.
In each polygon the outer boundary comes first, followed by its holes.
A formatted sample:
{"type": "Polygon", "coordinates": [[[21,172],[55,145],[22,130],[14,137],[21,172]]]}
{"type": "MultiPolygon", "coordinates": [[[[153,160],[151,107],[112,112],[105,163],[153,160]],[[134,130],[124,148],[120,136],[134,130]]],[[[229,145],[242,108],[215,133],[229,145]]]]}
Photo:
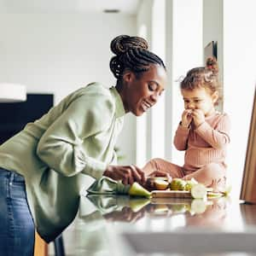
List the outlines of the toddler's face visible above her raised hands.
{"type": "Polygon", "coordinates": [[[209,90],[201,87],[193,90],[181,90],[181,93],[185,109],[201,109],[205,116],[215,111],[214,103],[218,100],[218,91],[211,95],[209,90]]]}

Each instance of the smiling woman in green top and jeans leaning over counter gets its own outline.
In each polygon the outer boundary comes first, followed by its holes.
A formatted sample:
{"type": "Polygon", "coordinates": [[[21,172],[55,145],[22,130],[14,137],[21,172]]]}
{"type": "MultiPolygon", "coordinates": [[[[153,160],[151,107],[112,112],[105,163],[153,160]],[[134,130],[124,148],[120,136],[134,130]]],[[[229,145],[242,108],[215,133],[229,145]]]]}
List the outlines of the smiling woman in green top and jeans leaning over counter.
{"type": "Polygon", "coordinates": [[[0,254],[32,255],[35,227],[55,239],[75,217],[88,175],[144,183],[137,166],[114,164],[113,148],[125,113],[158,101],[166,67],[143,38],[119,36],[111,49],[115,87],[74,91],[0,147],[0,254]]]}

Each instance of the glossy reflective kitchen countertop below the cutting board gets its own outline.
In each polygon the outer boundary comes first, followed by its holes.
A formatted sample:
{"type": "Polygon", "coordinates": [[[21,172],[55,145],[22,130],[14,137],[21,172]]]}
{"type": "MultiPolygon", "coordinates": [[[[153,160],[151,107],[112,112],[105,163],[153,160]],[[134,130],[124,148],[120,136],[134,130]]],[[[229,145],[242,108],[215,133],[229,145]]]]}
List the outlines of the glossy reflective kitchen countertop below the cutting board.
{"type": "Polygon", "coordinates": [[[87,195],[63,240],[67,255],[256,255],[256,205],[87,195]]]}

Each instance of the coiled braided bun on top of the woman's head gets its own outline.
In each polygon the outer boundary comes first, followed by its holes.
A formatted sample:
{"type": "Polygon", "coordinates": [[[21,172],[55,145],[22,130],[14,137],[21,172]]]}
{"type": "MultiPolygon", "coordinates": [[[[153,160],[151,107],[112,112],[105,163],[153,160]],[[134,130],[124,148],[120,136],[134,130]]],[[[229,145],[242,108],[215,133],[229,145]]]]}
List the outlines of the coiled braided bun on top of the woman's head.
{"type": "Polygon", "coordinates": [[[123,54],[126,50],[131,48],[148,49],[148,42],[144,38],[120,35],[113,38],[110,44],[110,49],[115,55],[123,54]]]}

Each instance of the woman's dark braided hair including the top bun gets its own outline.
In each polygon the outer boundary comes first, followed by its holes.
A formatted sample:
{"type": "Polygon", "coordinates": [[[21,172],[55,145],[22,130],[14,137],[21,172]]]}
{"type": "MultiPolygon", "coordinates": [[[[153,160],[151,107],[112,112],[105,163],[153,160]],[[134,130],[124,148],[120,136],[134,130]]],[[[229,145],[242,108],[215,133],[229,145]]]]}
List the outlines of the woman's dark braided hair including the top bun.
{"type": "Polygon", "coordinates": [[[150,64],[159,64],[166,69],[158,55],[148,50],[148,43],[140,37],[121,35],[113,38],[110,49],[114,56],[109,66],[116,79],[121,79],[125,70],[130,70],[137,78],[147,72],[150,64]]]}

